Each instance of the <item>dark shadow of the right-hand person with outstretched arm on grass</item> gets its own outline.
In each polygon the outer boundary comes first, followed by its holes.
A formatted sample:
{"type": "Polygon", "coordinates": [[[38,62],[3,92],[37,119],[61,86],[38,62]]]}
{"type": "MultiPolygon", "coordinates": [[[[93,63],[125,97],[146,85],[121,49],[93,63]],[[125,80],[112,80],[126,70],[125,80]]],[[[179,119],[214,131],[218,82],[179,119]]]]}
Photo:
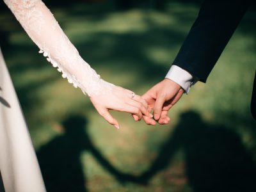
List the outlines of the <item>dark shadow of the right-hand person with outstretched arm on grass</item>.
{"type": "Polygon", "coordinates": [[[175,131],[138,182],[146,183],[167,168],[179,149],[184,150],[193,191],[256,191],[256,166],[239,136],[227,127],[207,124],[194,111],[181,115],[175,131]]]}

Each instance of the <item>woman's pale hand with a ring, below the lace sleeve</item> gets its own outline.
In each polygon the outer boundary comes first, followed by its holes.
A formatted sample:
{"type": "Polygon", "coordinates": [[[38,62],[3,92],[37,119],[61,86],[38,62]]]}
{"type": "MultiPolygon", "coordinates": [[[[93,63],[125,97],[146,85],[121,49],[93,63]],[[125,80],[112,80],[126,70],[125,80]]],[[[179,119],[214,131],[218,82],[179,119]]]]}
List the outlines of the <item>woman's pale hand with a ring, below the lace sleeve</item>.
{"type": "Polygon", "coordinates": [[[152,115],[148,112],[147,102],[139,95],[135,95],[132,91],[126,90],[120,86],[114,86],[112,90],[108,90],[102,95],[93,95],[90,97],[90,100],[98,113],[117,129],[119,129],[119,124],[117,120],[110,115],[110,109],[132,113],[138,116],[139,119],[143,115],[152,118],[152,115]]]}

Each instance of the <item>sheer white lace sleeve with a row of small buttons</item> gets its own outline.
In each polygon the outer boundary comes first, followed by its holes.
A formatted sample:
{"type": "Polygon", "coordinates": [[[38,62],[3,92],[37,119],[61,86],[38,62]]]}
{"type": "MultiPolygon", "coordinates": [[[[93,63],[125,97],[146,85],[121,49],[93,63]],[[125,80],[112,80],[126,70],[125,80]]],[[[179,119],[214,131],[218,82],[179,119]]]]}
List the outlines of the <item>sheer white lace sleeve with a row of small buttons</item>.
{"type": "Polygon", "coordinates": [[[52,13],[40,0],[4,0],[16,19],[40,48],[47,61],[52,63],[62,77],[81,88],[89,96],[100,95],[113,88],[113,84],[100,79],[77,49],[63,33],[52,13]]]}

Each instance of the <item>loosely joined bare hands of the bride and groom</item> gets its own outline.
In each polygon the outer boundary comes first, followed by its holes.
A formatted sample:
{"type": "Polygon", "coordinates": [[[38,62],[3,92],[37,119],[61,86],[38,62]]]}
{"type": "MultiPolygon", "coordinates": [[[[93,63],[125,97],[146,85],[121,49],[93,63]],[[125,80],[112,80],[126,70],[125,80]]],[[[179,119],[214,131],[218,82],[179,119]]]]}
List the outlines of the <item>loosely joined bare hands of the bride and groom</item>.
{"type": "Polygon", "coordinates": [[[170,79],[164,79],[150,88],[144,95],[134,95],[130,90],[115,86],[111,92],[90,97],[98,113],[111,125],[119,129],[118,121],[109,110],[131,113],[134,120],[143,118],[146,124],[168,124],[168,111],[182,97],[184,90],[170,79]],[[153,115],[151,113],[153,111],[153,115]]]}

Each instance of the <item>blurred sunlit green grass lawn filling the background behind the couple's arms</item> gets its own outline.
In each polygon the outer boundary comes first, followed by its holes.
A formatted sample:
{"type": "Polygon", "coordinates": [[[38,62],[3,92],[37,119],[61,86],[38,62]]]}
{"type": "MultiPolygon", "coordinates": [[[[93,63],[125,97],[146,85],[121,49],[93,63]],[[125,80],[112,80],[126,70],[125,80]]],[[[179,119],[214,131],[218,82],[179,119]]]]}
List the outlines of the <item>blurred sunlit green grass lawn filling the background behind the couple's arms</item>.
{"type": "MultiPolygon", "coordinates": [[[[143,94],[163,79],[198,12],[196,5],[179,3],[170,4],[166,12],[132,9],[97,13],[96,6],[95,12],[87,13],[83,10],[90,10],[88,6],[74,3],[68,7],[52,8],[52,12],[84,60],[103,79],[138,94],[143,94]]],[[[129,114],[113,112],[120,122],[120,130],[108,125],[97,114],[88,97],[70,86],[37,54],[37,47],[17,22],[14,19],[10,22],[8,17],[12,15],[7,11],[0,13],[3,29],[8,32],[8,46],[2,46],[4,57],[35,149],[40,154],[48,147],[43,157],[56,158],[52,159],[57,163],[51,171],[56,172],[57,179],[58,175],[74,175],[73,179],[61,180],[63,186],[66,182],[75,186],[76,177],[81,177],[84,180],[82,185],[88,191],[187,192],[196,186],[193,178],[204,180],[202,174],[195,175],[198,170],[191,176],[191,157],[200,157],[196,152],[204,154],[199,158],[201,161],[218,164],[214,158],[218,159],[223,154],[217,152],[209,160],[212,154],[207,152],[213,148],[222,151],[216,143],[224,140],[224,144],[229,146],[233,140],[228,138],[237,136],[241,141],[234,141],[234,146],[239,145],[253,157],[256,124],[250,116],[250,99],[256,63],[256,14],[252,10],[232,36],[207,84],[197,83],[189,95],[184,95],[170,111],[170,125],[150,127],[143,122],[134,122],[129,114]],[[195,111],[194,115],[189,116],[191,111],[195,111]],[[184,113],[187,116],[180,116],[184,113]],[[196,118],[195,114],[202,119],[196,118]],[[87,124],[80,125],[85,130],[84,137],[80,137],[90,140],[90,145],[85,141],[79,144],[76,137],[65,134],[62,122],[74,115],[86,119],[87,124]],[[205,129],[198,131],[201,125],[205,129]],[[193,142],[189,143],[190,140],[193,142]],[[71,143],[68,144],[69,141],[71,143]],[[196,142],[200,145],[195,145],[196,142]],[[92,152],[92,146],[98,153],[92,152]],[[68,147],[73,150],[65,152],[68,147]],[[59,150],[64,151],[63,154],[59,150]],[[191,156],[191,150],[195,150],[195,155],[191,156]],[[56,156],[58,153],[60,156],[56,156]],[[127,175],[122,174],[140,176],[150,169],[157,157],[163,160],[160,161],[163,167],[153,166],[155,171],[147,184],[125,182],[127,175]],[[79,163],[83,177],[63,165],[65,161],[79,163]],[[60,166],[59,169],[56,166],[60,166]]],[[[77,128],[75,125],[74,130],[77,128]]],[[[228,157],[237,155],[229,152],[226,154],[228,157]]],[[[221,161],[226,162],[226,159],[221,161]]],[[[236,168],[234,166],[234,170],[236,168]]],[[[47,170],[42,168],[42,172],[44,174],[47,170]]],[[[214,180],[215,177],[212,178],[214,180]]]]}

